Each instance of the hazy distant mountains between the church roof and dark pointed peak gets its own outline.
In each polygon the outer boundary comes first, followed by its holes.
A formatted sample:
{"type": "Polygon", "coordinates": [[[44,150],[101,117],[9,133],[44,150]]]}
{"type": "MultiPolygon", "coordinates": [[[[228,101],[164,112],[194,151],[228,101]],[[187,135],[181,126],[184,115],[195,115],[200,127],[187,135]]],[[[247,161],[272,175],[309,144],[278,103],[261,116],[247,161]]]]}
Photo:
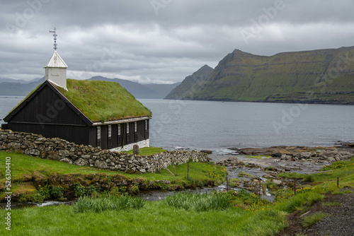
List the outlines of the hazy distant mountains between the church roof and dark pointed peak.
{"type": "Polygon", "coordinates": [[[90,78],[93,81],[113,81],[122,85],[129,93],[135,98],[165,98],[170,91],[175,88],[179,83],[173,84],[140,84],[133,81],[127,81],[121,78],[105,78],[102,76],[94,76],[90,78]]]}

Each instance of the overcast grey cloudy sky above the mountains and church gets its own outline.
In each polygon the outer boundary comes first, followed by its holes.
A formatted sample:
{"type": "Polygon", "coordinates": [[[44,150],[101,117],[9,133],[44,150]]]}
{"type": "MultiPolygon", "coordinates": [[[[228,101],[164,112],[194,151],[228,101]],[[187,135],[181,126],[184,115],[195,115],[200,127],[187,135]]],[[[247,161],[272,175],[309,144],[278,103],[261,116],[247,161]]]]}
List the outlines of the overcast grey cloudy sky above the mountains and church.
{"type": "Polygon", "coordinates": [[[0,78],[44,76],[56,28],[67,77],[176,83],[240,49],[354,45],[353,0],[0,0],[0,78]]]}

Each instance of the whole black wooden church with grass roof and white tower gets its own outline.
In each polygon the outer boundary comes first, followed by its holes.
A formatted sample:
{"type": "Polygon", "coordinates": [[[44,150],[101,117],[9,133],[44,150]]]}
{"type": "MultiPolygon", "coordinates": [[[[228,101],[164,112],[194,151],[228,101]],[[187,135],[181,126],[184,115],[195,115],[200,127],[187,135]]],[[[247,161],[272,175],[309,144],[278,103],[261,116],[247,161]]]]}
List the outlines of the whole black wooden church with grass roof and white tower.
{"type": "Polygon", "coordinates": [[[4,118],[2,129],[127,151],[149,146],[152,113],[118,83],[67,79],[57,51],[45,65],[45,82],[4,118]]]}

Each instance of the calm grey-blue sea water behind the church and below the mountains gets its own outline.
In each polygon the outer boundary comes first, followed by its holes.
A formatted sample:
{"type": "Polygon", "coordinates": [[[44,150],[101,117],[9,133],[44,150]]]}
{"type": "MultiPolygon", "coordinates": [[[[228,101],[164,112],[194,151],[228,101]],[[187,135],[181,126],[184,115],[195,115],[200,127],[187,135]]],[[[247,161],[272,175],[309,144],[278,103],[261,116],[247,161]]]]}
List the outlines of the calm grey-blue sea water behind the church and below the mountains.
{"type": "MultiPolygon", "coordinates": [[[[0,96],[0,119],[23,97],[0,96]]],[[[139,99],[152,111],[150,144],[167,150],[333,146],[354,142],[354,107],[139,99]]],[[[0,121],[4,122],[4,121],[0,121]]]]}

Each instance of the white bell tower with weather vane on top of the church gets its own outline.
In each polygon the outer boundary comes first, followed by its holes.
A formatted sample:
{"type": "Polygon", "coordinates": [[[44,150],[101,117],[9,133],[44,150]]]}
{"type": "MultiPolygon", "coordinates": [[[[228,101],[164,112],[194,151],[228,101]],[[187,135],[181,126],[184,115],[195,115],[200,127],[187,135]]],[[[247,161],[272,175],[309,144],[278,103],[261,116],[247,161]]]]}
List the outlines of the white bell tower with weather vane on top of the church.
{"type": "Polygon", "coordinates": [[[54,49],[55,52],[52,54],[52,57],[48,60],[47,64],[45,64],[45,80],[58,85],[61,88],[67,90],[67,64],[65,64],[62,57],[57,53],[57,34],[54,31],[50,31],[50,33],[54,33],[54,49]]]}

